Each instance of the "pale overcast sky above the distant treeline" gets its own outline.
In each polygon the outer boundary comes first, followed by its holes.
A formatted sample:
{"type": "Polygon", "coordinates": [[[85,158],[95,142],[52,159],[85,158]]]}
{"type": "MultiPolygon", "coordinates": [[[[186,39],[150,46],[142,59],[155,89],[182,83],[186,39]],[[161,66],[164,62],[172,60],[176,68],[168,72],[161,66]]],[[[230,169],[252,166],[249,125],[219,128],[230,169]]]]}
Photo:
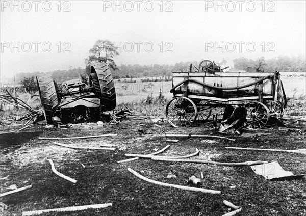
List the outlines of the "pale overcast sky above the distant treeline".
{"type": "Polygon", "coordinates": [[[121,48],[118,65],[305,55],[305,1],[217,3],[1,1],[1,77],[84,68],[97,39],[121,48]]]}

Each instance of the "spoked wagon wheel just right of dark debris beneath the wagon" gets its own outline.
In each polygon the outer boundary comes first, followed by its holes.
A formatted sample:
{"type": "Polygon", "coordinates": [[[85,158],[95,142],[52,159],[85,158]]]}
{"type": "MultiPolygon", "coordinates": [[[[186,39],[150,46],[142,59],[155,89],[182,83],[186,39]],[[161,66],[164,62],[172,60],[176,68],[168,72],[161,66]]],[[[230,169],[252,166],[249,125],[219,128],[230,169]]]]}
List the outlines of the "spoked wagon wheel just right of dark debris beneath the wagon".
{"type": "Polygon", "coordinates": [[[246,108],[246,123],[252,129],[261,129],[269,122],[270,111],[263,103],[249,102],[244,107],[246,108]]]}

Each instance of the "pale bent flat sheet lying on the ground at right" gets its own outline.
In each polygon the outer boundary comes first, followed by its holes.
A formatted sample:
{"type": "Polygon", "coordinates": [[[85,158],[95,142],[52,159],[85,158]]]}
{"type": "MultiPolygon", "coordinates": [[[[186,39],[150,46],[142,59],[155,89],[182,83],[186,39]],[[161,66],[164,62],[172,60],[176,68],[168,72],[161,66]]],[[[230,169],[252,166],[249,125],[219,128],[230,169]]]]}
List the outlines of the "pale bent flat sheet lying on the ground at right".
{"type": "Polygon", "coordinates": [[[263,165],[251,166],[251,169],[254,173],[262,175],[269,180],[296,179],[304,176],[304,174],[293,175],[292,172],[285,171],[277,161],[263,165]]]}

